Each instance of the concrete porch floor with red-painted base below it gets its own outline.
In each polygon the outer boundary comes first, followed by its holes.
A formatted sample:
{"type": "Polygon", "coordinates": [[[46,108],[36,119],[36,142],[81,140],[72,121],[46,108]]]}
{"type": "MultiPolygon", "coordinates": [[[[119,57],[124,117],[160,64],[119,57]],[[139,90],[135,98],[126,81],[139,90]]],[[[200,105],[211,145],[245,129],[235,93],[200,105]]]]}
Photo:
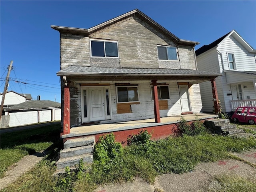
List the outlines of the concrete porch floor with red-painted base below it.
{"type": "Polygon", "coordinates": [[[182,117],[189,123],[192,123],[197,118],[204,121],[216,118],[217,116],[218,115],[216,114],[197,113],[162,117],[160,118],[160,123],[156,123],[155,119],[151,118],[145,120],[81,125],[71,128],[70,133],[62,135],[62,138],[68,140],[72,138],[94,136],[95,142],[97,142],[100,136],[113,132],[116,136],[116,141],[126,144],[129,136],[138,134],[145,129],[152,133],[152,139],[166,138],[171,134],[175,134],[176,123],[180,122],[182,117]]]}

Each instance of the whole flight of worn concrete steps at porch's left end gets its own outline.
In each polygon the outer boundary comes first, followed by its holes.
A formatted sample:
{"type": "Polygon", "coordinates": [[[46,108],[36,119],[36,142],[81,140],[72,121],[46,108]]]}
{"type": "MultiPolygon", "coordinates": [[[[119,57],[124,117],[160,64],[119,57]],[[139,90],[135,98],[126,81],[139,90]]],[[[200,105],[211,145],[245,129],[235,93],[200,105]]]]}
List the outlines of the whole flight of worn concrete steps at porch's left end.
{"type": "Polygon", "coordinates": [[[60,159],[56,162],[57,169],[74,167],[81,159],[84,163],[92,163],[94,143],[94,136],[67,140],[64,149],[60,151],[60,159]]]}

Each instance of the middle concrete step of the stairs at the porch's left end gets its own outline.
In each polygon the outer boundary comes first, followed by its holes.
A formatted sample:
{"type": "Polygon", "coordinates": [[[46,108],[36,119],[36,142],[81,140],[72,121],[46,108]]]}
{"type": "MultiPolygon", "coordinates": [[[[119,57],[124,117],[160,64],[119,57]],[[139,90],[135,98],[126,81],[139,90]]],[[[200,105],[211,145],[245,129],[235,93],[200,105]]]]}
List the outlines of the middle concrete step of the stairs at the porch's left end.
{"type": "Polygon", "coordinates": [[[82,154],[92,154],[93,148],[94,148],[93,145],[87,145],[87,146],[63,149],[60,152],[60,159],[82,155],[82,154]]]}

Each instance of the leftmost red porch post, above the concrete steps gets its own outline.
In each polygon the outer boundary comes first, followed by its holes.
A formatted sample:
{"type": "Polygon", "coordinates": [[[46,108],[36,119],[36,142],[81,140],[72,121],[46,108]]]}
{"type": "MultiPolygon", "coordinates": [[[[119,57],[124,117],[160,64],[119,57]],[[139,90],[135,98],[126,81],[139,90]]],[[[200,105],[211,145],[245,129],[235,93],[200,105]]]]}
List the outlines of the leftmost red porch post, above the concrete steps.
{"type": "Polygon", "coordinates": [[[70,92],[69,85],[66,81],[66,77],[63,77],[64,80],[64,110],[63,110],[63,134],[70,133],[70,92]]]}

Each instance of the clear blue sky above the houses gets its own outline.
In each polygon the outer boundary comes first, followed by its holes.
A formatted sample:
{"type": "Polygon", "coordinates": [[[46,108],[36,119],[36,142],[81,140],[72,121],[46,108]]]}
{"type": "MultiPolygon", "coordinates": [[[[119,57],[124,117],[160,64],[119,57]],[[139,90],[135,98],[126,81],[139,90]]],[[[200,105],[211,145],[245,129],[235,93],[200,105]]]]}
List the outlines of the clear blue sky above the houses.
{"type": "Polygon", "coordinates": [[[50,25],[90,28],[139,9],[196,49],[235,29],[256,49],[256,1],[0,1],[1,89],[60,102],[60,35],[50,25]],[[41,86],[39,86],[41,85],[41,86]]]}

